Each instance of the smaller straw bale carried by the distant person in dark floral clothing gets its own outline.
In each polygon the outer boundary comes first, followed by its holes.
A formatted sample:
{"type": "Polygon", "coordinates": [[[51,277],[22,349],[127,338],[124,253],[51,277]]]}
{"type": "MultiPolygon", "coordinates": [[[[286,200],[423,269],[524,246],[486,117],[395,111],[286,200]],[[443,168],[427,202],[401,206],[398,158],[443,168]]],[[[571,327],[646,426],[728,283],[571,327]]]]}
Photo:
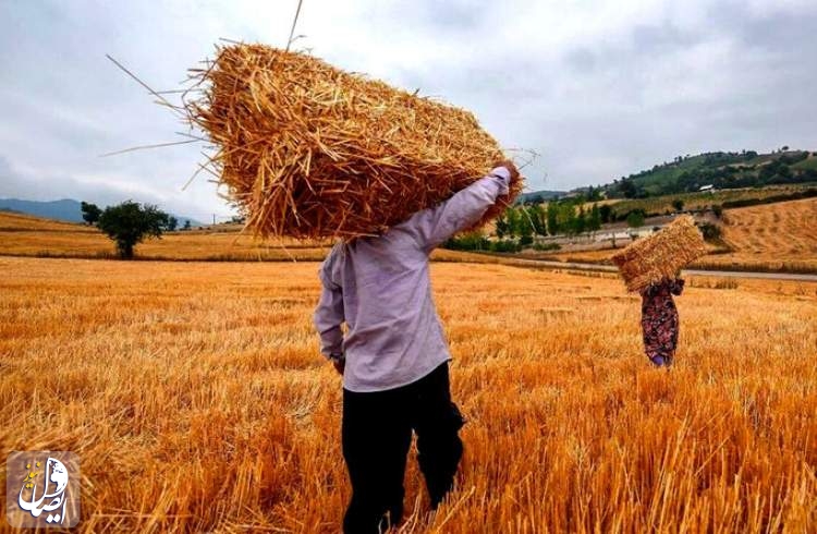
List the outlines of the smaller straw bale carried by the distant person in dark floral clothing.
{"type": "Polygon", "coordinates": [[[706,254],[704,238],[695,220],[684,215],[659,232],[641,239],[612,256],[629,291],[641,291],[706,254]]]}

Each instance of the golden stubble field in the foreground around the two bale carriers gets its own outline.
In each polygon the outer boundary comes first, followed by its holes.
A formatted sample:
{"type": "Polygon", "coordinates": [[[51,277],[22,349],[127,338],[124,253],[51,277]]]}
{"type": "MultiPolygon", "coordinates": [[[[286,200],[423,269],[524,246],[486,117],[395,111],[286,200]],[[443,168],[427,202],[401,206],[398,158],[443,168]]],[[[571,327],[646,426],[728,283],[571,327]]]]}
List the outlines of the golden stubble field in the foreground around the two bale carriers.
{"type": "MultiPolygon", "coordinates": [[[[0,267],[0,442],[81,454],[83,532],[339,530],[316,263],[0,267]]],[[[405,532],[817,530],[817,284],[692,279],[664,372],[615,279],[432,279],[466,452],[434,518],[410,461],[405,532]]]]}

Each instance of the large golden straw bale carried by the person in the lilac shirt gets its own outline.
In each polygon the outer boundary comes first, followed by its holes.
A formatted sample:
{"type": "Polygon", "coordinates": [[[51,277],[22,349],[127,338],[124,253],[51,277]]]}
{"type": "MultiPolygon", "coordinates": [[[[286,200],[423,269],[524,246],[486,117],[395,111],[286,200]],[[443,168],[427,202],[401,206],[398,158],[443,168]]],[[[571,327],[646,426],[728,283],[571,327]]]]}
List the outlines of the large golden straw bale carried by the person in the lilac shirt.
{"type": "Polygon", "coordinates": [[[186,120],[215,145],[209,163],[256,235],[378,234],[505,159],[468,111],[305,53],[235,44],[191,72],[202,90],[184,98],[186,120]]]}

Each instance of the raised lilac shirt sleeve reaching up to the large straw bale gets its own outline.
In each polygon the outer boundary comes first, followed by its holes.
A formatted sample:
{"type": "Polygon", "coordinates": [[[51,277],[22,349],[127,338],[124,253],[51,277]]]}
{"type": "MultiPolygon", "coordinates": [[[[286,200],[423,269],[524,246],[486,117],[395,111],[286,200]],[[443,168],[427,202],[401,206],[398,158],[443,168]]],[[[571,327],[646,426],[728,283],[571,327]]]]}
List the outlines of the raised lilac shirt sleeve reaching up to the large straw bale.
{"type": "Polygon", "coordinates": [[[497,198],[508,194],[510,181],[510,171],[497,167],[448,201],[417,211],[400,227],[414,235],[420,248],[430,253],[456,232],[476,223],[497,198]]]}

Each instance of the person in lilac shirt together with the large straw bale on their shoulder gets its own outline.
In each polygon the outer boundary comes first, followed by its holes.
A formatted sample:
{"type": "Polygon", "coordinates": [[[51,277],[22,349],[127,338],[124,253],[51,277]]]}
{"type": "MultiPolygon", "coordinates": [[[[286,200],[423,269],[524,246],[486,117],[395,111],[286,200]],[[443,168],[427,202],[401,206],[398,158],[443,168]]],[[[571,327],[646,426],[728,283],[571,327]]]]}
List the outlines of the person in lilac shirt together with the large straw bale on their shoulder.
{"type": "Polygon", "coordinates": [[[451,489],[463,425],[431,300],[428,256],[523,187],[499,144],[460,108],[263,45],[219,47],[193,71],[187,120],[254,234],[338,239],[314,319],[343,375],[344,530],[401,520],[412,432],[431,507],[451,489]],[[347,332],[341,330],[345,323],[347,332]]]}

